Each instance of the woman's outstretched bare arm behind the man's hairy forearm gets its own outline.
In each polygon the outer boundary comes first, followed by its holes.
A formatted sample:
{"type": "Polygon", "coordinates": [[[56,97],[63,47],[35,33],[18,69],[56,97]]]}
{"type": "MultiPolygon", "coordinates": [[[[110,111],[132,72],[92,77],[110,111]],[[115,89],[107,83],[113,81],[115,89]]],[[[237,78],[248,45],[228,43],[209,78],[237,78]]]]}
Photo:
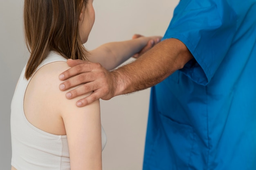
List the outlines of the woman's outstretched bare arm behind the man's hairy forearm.
{"type": "Polygon", "coordinates": [[[144,47],[152,47],[161,38],[160,36],[141,36],[132,40],[109,42],[90,51],[91,56],[88,59],[94,63],[101,63],[107,70],[112,70],[141,51],[144,47]]]}

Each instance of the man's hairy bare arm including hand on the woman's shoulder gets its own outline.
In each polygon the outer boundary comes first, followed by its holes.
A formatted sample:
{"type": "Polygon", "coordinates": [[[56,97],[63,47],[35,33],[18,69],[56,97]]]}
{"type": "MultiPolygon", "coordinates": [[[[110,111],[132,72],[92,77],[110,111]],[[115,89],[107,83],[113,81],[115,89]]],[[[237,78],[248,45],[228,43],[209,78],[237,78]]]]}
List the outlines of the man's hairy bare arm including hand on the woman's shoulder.
{"type": "Polygon", "coordinates": [[[171,38],[159,42],[133,63],[108,72],[97,63],[69,60],[72,68],[60,75],[68,81],[60,85],[65,90],[77,84],[85,83],[67,93],[67,98],[74,98],[85,92],[94,91],[90,96],[79,100],[81,107],[102,98],[108,100],[114,96],[146,89],[161,82],[193,58],[186,46],[171,38]]]}

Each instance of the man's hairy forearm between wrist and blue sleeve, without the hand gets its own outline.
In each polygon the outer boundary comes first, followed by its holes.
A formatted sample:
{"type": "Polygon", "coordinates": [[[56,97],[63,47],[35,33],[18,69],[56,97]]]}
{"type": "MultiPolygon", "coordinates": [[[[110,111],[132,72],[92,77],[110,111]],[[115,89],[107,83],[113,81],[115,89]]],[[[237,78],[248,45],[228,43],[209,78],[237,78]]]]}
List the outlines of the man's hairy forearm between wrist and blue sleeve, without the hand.
{"type": "Polygon", "coordinates": [[[115,96],[152,87],[193,58],[186,46],[171,38],[159,42],[133,63],[111,72],[115,77],[115,96]]]}

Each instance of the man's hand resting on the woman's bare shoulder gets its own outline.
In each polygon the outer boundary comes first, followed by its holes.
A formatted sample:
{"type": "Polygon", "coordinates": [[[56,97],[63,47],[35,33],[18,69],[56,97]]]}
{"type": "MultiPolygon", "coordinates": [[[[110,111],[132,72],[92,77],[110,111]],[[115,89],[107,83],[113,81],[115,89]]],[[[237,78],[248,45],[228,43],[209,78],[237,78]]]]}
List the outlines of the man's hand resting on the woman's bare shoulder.
{"type": "Polygon", "coordinates": [[[71,87],[79,87],[66,93],[68,99],[92,92],[90,96],[76,102],[78,107],[88,105],[99,98],[109,100],[115,96],[115,76],[102,67],[99,63],[84,60],[67,60],[71,68],[59,75],[59,79],[65,81],[59,85],[62,91],[71,87]]]}

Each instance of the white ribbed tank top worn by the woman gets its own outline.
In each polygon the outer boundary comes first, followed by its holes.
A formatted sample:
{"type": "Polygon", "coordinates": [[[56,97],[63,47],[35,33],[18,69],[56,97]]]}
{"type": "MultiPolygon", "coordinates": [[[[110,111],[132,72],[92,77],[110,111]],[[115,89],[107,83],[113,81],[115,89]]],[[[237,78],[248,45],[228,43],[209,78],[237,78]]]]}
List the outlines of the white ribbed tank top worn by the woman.
{"type": "MultiPolygon", "coordinates": [[[[67,60],[50,52],[36,70],[55,61],[67,60]]],[[[11,165],[17,170],[70,170],[67,136],[47,133],[26,119],[23,102],[31,78],[24,78],[25,68],[26,66],[22,70],[11,102],[11,165]]],[[[107,139],[102,126],[101,138],[103,150],[107,139]]]]}

